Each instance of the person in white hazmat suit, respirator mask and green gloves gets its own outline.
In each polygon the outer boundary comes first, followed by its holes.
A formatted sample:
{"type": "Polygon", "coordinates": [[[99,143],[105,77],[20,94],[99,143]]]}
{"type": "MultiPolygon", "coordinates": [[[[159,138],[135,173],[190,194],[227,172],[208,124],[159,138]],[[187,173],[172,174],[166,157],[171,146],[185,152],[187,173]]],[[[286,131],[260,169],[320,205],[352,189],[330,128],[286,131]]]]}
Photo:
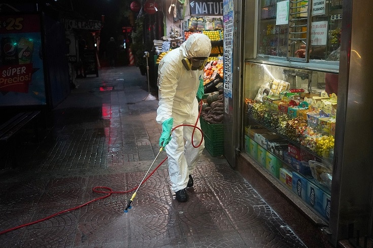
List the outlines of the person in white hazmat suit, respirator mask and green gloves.
{"type": "MultiPolygon", "coordinates": [[[[159,146],[168,155],[171,189],[180,202],[188,200],[187,187],[193,186],[191,172],[205,148],[202,134],[193,127],[171,129],[180,124],[194,125],[198,118],[198,101],[204,95],[204,66],[211,53],[211,41],[202,33],[189,36],[179,48],[168,52],[158,68],[158,98],[156,121],[162,124],[159,146]],[[198,98],[198,99],[197,99],[198,98]],[[185,140],[185,141],[184,141],[185,140]]],[[[197,127],[200,128],[199,120],[197,127]]]]}

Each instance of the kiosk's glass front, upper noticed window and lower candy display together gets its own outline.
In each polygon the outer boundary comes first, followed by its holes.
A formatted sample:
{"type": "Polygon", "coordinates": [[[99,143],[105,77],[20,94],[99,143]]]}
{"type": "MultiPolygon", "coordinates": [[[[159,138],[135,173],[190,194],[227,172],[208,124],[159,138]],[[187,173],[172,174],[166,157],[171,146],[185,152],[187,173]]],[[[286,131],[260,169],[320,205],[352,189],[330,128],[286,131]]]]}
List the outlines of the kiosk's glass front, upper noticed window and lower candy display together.
{"type": "Polygon", "coordinates": [[[330,54],[340,13],[333,1],[260,1],[257,56],[245,59],[243,83],[244,152],[326,225],[339,66],[330,54]]]}

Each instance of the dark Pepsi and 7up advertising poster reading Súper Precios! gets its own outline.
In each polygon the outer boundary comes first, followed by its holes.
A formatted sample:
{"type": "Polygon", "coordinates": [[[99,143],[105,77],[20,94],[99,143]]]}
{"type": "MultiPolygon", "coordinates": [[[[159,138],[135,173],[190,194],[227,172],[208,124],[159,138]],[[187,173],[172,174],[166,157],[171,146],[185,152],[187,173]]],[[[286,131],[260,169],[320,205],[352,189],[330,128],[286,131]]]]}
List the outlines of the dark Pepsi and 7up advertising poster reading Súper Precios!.
{"type": "Polygon", "coordinates": [[[0,15],[0,106],[46,104],[39,14],[0,15]]]}

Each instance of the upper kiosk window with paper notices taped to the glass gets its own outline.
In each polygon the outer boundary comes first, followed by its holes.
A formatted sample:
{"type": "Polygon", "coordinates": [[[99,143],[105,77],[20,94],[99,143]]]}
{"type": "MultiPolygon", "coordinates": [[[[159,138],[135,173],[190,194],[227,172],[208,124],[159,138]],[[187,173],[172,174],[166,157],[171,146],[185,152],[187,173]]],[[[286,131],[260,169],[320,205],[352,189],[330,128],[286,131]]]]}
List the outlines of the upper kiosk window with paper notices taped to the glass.
{"type": "Polygon", "coordinates": [[[339,60],[342,0],[262,0],[260,4],[258,58],[330,64],[339,60]]]}

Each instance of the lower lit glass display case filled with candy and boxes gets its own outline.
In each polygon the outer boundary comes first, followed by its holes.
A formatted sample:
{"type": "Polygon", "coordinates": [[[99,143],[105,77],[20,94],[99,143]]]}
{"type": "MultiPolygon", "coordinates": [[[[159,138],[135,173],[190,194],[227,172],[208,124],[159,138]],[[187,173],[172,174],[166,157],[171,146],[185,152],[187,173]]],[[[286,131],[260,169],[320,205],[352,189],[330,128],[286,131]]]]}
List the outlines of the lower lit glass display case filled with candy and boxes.
{"type": "Polygon", "coordinates": [[[245,153],[327,222],[337,96],[326,81],[338,75],[249,61],[245,68],[245,153]]]}

